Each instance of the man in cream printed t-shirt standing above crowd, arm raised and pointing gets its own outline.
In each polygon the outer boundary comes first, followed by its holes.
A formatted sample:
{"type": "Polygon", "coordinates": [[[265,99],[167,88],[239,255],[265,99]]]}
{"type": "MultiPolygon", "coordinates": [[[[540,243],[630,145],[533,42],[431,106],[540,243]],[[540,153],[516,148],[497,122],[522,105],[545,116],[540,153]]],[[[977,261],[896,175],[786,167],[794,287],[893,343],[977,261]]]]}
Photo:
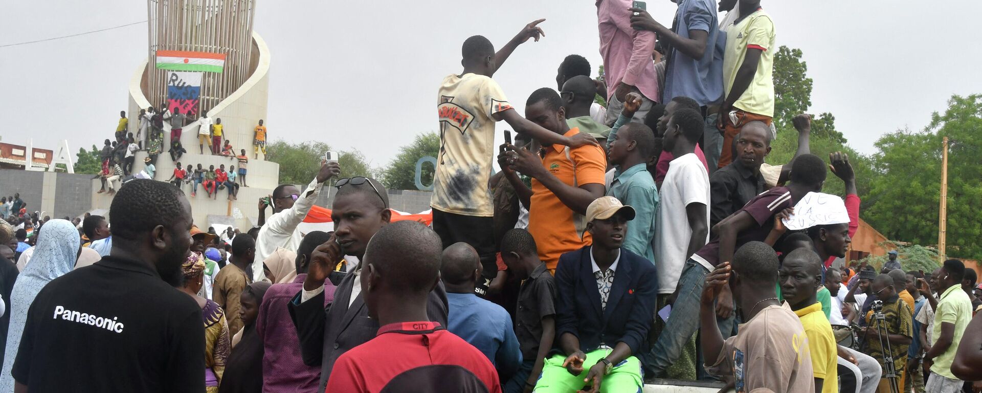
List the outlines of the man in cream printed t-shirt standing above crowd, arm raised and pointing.
{"type": "Polygon", "coordinates": [[[488,287],[498,271],[495,264],[494,206],[488,181],[495,156],[495,123],[504,120],[519,134],[545,144],[597,144],[586,134],[571,137],[553,133],[521,117],[509,103],[494,73],[515,48],[529,38],[545,35],[538,20],[526,25],[508,44],[495,52],[494,45],[481,35],[464,41],[461,50],[464,71],[444,78],[437,94],[440,122],[440,152],[433,177],[433,230],[446,249],[466,243],[480,255],[484,266],[478,295],[488,287]]]}

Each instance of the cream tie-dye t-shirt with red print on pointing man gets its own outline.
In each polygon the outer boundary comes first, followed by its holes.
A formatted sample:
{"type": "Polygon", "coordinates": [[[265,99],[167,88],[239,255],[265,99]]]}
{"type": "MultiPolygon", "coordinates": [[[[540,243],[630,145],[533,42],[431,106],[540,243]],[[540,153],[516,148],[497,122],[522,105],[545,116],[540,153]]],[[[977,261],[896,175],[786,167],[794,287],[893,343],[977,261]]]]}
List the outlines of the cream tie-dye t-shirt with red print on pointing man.
{"type": "Polygon", "coordinates": [[[436,105],[440,151],[430,206],[467,216],[494,216],[488,190],[497,150],[493,115],[512,109],[512,104],[494,80],[468,73],[444,78],[436,105]]]}

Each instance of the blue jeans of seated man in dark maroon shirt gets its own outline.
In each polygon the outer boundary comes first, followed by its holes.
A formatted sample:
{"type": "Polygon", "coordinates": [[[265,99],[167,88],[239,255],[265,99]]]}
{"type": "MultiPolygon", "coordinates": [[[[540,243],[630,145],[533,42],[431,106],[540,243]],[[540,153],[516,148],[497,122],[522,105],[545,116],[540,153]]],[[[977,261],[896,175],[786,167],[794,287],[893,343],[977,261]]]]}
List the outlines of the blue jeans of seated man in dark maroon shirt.
{"type": "MultiPolygon", "coordinates": [[[[669,315],[665,329],[658,337],[658,341],[651,347],[648,356],[645,357],[645,374],[655,378],[663,378],[665,370],[676,361],[682,354],[682,348],[689,337],[692,337],[699,330],[699,307],[702,298],[702,286],[706,283],[706,270],[699,262],[689,258],[682,269],[682,277],[679,278],[679,298],[672,305],[672,313],[669,315]]],[[[717,317],[716,323],[720,327],[723,338],[730,337],[734,330],[734,315],[722,319],[717,317]]],[[[699,349],[696,349],[699,351],[699,349]]],[[[712,361],[716,361],[715,359],[712,361]]]]}

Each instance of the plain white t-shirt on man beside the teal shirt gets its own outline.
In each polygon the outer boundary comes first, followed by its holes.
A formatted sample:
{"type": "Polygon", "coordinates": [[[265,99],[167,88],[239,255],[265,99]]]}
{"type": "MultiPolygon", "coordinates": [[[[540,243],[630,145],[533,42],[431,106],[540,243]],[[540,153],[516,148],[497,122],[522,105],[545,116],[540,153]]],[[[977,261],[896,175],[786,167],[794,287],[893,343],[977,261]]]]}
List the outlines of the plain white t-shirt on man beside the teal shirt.
{"type": "MultiPolygon", "coordinates": [[[[709,174],[694,153],[678,157],[669,164],[665,181],[658,193],[658,231],[655,232],[655,267],[658,269],[658,293],[675,292],[688,259],[688,241],[692,228],[688,226],[685,206],[703,203],[706,222],[709,221],[709,174]]],[[[706,241],[709,234],[706,234],[706,241]]]]}

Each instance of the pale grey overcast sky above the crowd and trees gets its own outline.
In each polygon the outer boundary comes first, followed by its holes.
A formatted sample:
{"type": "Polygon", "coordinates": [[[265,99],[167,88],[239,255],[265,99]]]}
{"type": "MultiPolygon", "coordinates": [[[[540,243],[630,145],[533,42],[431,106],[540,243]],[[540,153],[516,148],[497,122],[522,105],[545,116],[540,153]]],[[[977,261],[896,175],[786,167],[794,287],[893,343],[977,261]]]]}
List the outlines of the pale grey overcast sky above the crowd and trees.
{"type": "MultiPolygon", "coordinates": [[[[647,3],[657,20],[671,24],[675,4],[647,3]]],[[[952,94],[982,92],[976,50],[982,1],[763,6],[775,20],[778,44],[804,52],[814,80],[809,112],[832,112],[860,152],[874,152],[884,133],[923,128],[952,94]]],[[[483,34],[500,47],[538,18],[547,19],[546,36],[521,45],[495,75],[519,113],[532,90],[555,88],[566,55],[583,55],[594,69],[601,64],[592,1],[259,0],[255,30],[272,52],[270,137],[355,147],[383,166],[415,135],[437,130],[437,87],[461,71],[467,36],[483,34]]],[[[6,2],[0,45],[144,20],[146,5],[134,0],[6,2]]],[[[140,24],[0,47],[3,141],[33,138],[35,146],[54,147],[67,139],[78,151],[109,138],[126,109],[127,84],[146,57],[146,34],[140,24]]]]}

